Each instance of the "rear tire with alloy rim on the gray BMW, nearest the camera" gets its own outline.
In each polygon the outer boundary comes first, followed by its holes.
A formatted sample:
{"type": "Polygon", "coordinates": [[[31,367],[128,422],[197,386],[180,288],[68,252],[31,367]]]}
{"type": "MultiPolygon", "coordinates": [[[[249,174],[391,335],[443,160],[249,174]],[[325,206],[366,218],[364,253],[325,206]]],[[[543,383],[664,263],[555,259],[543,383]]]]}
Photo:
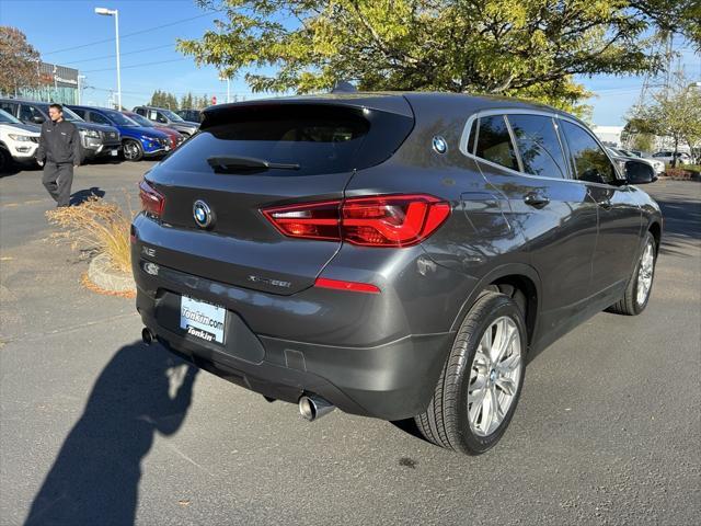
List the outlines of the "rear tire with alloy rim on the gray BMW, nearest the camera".
{"type": "Polygon", "coordinates": [[[414,419],[424,437],[468,455],[496,445],[518,404],[527,342],[518,304],[504,294],[483,294],[460,325],[428,409],[414,419]],[[497,357],[504,335],[515,340],[497,357]]]}

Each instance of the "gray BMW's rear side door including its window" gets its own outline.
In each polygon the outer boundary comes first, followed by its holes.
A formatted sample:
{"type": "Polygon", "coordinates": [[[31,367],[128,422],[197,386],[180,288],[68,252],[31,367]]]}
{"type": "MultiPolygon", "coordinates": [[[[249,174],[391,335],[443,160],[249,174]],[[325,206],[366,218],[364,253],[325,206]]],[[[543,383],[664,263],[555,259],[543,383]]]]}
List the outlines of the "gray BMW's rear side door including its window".
{"type": "Polygon", "coordinates": [[[541,276],[542,320],[552,330],[590,293],[596,204],[584,185],[568,179],[551,115],[483,114],[475,134],[480,169],[508,199],[509,224],[525,236],[541,276]]]}

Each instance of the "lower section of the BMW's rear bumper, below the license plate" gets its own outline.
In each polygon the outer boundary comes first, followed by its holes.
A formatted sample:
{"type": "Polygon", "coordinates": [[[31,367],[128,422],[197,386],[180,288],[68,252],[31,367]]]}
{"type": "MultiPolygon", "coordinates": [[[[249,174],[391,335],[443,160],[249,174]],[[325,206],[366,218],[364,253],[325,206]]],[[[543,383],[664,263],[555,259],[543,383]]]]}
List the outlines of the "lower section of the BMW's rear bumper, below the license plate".
{"type": "Polygon", "coordinates": [[[296,403],[317,393],[342,411],[401,420],[424,411],[452,334],[406,336],[376,347],[337,347],[254,334],[228,312],[226,345],[195,341],[160,321],[158,300],[138,290],[143,324],[171,352],[197,367],[269,398],[296,403]]]}

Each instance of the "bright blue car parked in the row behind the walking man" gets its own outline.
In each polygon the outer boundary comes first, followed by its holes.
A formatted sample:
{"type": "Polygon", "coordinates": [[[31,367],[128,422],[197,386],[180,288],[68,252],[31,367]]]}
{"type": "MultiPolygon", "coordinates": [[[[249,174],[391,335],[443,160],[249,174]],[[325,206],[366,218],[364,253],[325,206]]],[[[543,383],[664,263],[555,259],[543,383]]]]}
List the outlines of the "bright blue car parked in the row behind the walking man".
{"type": "Polygon", "coordinates": [[[159,157],[171,150],[168,135],[154,128],[139,126],[138,123],[116,110],[73,105],[68,107],[89,123],[106,124],[117,128],[122,135],[122,148],[127,161],[159,157]]]}

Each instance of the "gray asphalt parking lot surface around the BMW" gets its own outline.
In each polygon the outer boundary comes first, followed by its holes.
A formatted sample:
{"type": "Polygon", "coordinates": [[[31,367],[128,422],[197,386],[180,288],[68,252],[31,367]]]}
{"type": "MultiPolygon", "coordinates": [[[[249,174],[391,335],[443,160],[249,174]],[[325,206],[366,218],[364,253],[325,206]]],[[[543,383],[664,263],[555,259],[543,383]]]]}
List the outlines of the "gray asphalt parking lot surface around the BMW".
{"type": "MultiPolygon", "coordinates": [[[[73,191],[136,206],[149,165],[81,167],[73,191]]],[[[340,411],[307,423],[143,346],[133,300],[81,287],[41,172],[0,179],[0,523],[698,524],[701,184],[645,190],[666,221],[647,310],[540,354],[470,458],[340,411]]]]}

